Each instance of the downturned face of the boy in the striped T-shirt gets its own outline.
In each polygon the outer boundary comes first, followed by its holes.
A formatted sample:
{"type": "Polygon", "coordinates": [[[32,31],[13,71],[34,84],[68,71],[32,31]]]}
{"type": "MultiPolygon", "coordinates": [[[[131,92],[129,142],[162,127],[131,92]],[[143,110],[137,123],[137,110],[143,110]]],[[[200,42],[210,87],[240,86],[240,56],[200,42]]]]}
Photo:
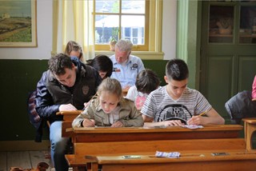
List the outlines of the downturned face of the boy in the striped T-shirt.
{"type": "Polygon", "coordinates": [[[177,100],[179,97],[182,96],[182,93],[186,89],[186,85],[188,83],[188,78],[182,81],[176,81],[174,79],[168,79],[166,76],[164,77],[167,85],[166,89],[169,93],[170,97],[172,97],[174,100],[177,100]]]}

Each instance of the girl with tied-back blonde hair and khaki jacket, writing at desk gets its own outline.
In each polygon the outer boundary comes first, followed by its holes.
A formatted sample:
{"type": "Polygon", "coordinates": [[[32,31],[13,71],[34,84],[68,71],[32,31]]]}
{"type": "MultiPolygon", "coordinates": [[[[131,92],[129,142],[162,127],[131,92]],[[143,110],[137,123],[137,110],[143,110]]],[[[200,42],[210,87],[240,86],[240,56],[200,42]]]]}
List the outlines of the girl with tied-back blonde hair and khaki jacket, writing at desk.
{"type": "Polygon", "coordinates": [[[106,78],[98,86],[98,96],[72,123],[73,127],[142,126],[143,119],[134,102],[122,97],[122,86],[114,78],[106,78]]]}

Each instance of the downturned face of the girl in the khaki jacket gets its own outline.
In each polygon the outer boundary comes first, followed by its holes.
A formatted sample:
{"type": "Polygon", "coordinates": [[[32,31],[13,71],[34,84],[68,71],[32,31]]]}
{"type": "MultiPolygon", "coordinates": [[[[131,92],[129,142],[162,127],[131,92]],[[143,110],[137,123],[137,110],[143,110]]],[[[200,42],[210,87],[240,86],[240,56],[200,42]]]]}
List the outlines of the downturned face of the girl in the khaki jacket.
{"type": "Polygon", "coordinates": [[[100,105],[105,113],[111,113],[117,106],[120,101],[118,96],[114,93],[108,91],[102,91],[99,95],[100,105]]]}

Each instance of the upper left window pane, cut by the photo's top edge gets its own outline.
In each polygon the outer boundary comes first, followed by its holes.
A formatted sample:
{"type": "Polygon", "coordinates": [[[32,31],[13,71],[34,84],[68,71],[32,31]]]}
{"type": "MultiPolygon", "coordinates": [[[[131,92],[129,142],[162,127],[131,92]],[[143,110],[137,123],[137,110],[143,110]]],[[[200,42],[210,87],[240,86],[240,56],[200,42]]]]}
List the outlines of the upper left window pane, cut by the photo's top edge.
{"type": "Polygon", "coordinates": [[[119,1],[118,0],[108,0],[108,1],[95,0],[95,12],[96,13],[118,13],[119,1]]]}

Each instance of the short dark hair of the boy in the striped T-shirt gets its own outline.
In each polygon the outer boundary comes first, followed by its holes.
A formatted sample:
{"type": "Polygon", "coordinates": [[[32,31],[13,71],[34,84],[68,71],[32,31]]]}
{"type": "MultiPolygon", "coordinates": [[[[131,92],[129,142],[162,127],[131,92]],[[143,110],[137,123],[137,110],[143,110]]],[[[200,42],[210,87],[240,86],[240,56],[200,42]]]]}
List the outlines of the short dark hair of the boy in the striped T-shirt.
{"type": "Polygon", "coordinates": [[[182,59],[171,59],[166,64],[166,77],[182,81],[189,77],[189,69],[182,59]]]}

